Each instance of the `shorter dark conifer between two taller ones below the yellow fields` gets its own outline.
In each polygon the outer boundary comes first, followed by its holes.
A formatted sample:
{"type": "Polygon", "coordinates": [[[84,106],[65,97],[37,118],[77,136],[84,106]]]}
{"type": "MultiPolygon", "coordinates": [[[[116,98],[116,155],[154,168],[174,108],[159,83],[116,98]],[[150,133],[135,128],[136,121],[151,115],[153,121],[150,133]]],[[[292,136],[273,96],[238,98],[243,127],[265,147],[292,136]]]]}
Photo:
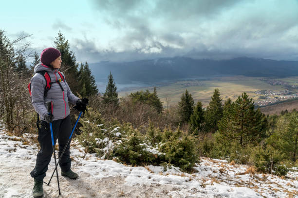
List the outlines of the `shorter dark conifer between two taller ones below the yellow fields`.
{"type": "Polygon", "coordinates": [[[202,131],[204,125],[204,110],[201,101],[198,101],[193,114],[190,115],[189,124],[191,128],[194,130],[194,134],[198,135],[198,132],[202,131]]]}

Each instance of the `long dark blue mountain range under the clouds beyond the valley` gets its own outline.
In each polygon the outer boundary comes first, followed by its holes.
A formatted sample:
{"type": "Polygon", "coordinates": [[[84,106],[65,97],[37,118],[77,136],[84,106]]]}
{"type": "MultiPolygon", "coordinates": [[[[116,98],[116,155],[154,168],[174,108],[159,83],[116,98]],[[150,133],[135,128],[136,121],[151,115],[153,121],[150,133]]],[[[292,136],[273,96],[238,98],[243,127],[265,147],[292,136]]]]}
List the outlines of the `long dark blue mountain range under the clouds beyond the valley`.
{"type": "Polygon", "coordinates": [[[100,62],[90,64],[90,68],[97,82],[107,82],[111,71],[118,83],[171,81],[223,75],[298,76],[298,61],[246,57],[231,60],[196,60],[175,57],[123,63],[100,62]]]}

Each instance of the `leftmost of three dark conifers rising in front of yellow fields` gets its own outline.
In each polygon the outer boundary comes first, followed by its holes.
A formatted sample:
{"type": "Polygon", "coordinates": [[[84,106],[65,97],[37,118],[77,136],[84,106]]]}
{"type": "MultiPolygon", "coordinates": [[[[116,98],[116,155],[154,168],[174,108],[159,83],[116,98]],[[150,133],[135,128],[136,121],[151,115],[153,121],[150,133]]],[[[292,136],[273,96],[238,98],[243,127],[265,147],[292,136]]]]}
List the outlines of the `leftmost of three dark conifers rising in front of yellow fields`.
{"type": "Polygon", "coordinates": [[[189,121],[190,115],[193,113],[193,107],[194,100],[186,89],[185,93],[182,94],[181,99],[178,102],[179,115],[182,123],[189,121]]]}

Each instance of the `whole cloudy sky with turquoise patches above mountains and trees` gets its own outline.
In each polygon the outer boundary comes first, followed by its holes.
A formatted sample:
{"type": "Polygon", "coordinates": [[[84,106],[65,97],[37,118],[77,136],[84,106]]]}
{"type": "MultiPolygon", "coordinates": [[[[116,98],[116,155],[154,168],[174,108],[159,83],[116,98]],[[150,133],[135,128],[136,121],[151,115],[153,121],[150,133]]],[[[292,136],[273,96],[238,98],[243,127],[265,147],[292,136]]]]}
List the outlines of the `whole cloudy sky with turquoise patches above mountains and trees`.
{"type": "Polygon", "coordinates": [[[5,0],[0,29],[37,53],[60,30],[79,62],[298,60],[298,0],[5,0]]]}

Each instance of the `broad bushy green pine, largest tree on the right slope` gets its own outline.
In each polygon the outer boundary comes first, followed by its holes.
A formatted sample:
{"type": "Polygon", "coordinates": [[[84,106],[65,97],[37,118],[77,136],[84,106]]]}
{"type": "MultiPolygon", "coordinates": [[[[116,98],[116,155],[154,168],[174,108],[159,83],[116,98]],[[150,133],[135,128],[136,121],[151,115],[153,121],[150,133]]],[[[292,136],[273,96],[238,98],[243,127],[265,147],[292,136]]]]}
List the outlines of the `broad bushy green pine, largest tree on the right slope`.
{"type": "Polygon", "coordinates": [[[219,122],[219,132],[229,140],[237,140],[244,147],[256,144],[265,136],[266,116],[254,110],[254,102],[244,92],[235,103],[224,105],[223,118],[219,122]]]}

